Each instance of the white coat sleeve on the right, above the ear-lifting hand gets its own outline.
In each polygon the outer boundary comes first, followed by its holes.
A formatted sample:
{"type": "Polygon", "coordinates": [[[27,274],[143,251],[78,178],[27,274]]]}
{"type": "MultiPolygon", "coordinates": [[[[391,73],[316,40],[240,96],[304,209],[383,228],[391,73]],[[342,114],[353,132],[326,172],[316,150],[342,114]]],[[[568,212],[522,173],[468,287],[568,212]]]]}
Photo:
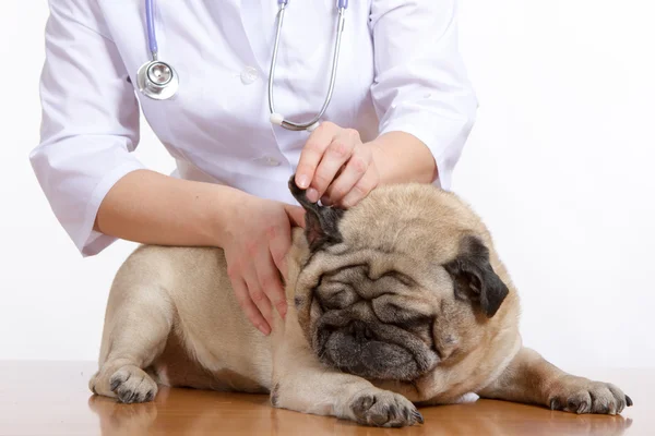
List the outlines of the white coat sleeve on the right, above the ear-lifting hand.
{"type": "Polygon", "coordinates": [[[422,141],[444,190],[473,129],[478,107],[457,47],[456,0],[372,0],[371,95],[380,134],[422,141]]]}

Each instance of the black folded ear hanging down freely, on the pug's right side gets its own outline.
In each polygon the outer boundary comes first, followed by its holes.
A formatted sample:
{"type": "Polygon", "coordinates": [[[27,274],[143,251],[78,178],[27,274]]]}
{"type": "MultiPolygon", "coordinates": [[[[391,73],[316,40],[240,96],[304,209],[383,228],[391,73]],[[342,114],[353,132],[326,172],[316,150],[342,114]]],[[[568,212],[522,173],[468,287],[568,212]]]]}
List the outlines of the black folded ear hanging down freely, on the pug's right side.
{"type": "Polygon", "coordinates": [[[464,237],[457,256],[443,267],[453,279],[455,296],[479,304],[488,318],[496,315],[509,289],[493,271],[489,249],[479,238],[464,237]]]}

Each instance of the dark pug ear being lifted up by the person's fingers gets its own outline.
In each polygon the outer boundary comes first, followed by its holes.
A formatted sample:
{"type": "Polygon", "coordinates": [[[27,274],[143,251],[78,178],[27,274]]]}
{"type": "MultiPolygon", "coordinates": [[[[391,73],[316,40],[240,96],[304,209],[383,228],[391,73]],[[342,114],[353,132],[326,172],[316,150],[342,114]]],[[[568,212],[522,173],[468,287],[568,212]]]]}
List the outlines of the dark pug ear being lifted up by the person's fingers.
{"type": "Polygon", "coordinates": [[[344,210],[311,203],[307,198],[305,190],[296,184],[295,174],[289,179],[289,190],[306,210],[305,237],[310,250],[313,252],[341,242],[342,235],[338,231],[338,221],[344,215],[344,210]]]}

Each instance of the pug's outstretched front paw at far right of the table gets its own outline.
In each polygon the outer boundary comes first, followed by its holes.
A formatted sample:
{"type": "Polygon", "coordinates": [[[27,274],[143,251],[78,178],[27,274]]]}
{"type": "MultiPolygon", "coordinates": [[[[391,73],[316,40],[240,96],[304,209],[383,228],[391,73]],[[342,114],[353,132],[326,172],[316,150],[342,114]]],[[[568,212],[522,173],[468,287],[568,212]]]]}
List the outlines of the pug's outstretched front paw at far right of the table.
{"type": "Polygon", "coordinates": [[[602,382],[565,376],[553,384],[548,399],[552,410],[573,413],[621,413],[632,400],[621,389],[602,382]]]}

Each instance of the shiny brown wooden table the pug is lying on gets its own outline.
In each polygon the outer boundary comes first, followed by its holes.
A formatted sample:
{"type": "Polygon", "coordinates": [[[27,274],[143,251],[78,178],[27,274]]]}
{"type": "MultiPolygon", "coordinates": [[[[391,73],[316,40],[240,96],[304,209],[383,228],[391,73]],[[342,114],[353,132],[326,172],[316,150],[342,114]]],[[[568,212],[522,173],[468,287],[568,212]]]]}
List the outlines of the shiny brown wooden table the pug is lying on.
{"type": "Polygon", "coordinates": [[[155,402],[118,404],[87,388],[93,362],[0,362],[0,435],[655,435],[655,371],[595,370],[634,405],[622,415],[575,415],[503,401],[424,408],[426,423],[361,427],[275,410],[265,396],[163,388],[155,402]]]}

